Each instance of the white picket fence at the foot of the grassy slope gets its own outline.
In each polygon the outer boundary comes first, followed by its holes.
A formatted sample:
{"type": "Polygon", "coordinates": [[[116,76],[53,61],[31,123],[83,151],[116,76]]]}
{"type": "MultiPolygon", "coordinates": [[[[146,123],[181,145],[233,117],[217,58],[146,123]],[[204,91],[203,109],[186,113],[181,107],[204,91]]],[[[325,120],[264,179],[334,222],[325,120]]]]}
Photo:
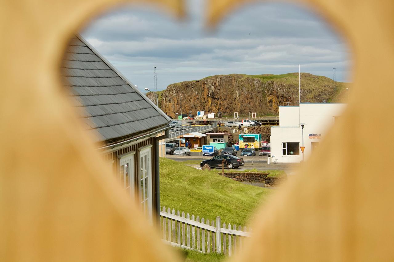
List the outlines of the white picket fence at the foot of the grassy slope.
{"type": "MultiPolygon", "coordinates": [[[[170,245],[185,249],[197,250],[203,253],[222,253],[234,255],[242,248],[242,240],[251,236],[246,227],[236,225],[221,225],[220,217],[216,221],[205,220],[179,210],[163,207],[160,212],[163,240],[170,245]]],[[[249,229],[250,231],[250,229],[249,229]]]]}

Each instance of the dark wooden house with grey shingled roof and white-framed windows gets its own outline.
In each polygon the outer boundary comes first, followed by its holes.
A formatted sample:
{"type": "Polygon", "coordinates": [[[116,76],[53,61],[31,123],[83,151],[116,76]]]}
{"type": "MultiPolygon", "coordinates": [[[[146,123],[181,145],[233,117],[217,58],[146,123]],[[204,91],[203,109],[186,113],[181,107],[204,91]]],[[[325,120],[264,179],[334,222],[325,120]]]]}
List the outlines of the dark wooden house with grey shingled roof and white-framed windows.
{"type": "Polygon", "coordinates": [[[62,74],[87,132],[154,221],[160,214],[158,142],[171,119],[80,36],[68,46],[62,74]]]}

